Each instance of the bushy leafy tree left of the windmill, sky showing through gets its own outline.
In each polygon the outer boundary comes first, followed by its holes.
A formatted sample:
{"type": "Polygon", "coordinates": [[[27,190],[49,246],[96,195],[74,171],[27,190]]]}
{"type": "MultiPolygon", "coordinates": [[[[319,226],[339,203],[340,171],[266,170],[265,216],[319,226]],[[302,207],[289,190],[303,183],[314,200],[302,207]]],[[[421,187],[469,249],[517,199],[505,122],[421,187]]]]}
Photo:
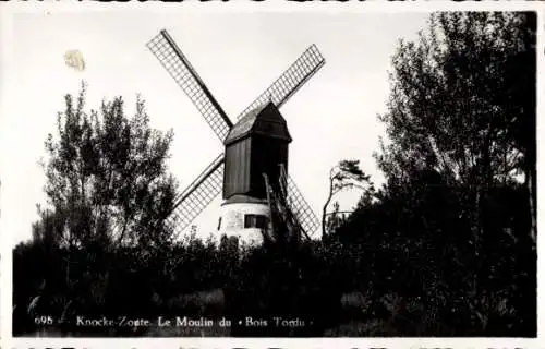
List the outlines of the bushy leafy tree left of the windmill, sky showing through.
{"type": "Polygon", "coordinates": [[[35,238],[65,246],[166,243],[175,192],[166,165],[172,131],[149,128],[140,97],[128,118],[121,97],[86,112],[85,94],[82,84],[77,98],[64,97],[58,134],[45,143],[49,208],[38,206],[35,238]]]}

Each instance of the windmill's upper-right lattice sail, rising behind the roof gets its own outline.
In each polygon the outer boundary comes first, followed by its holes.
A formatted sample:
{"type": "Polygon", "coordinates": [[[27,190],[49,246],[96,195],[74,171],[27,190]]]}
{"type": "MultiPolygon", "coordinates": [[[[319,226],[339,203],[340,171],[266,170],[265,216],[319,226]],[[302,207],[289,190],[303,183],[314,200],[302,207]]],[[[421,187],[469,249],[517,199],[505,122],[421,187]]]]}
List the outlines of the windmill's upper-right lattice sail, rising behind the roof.
{"type": "Polygon", "coordinates": [[[268,101],[272,101],[277,108],[280,108],[325,62],[316,45],[311,45],[280,77],[239,115],[238,119],[268,101]]]}

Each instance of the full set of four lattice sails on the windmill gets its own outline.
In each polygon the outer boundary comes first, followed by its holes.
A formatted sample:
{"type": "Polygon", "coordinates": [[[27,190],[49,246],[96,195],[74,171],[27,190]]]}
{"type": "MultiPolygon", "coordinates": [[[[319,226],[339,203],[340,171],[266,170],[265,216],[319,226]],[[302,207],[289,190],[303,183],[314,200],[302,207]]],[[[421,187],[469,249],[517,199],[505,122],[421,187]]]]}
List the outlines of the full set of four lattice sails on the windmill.
{"type": "MultiPolygon", "coordinates": [[[[182,53],[167,31],[161,31],[146,45],[183,89],[216,135],[223,141],[233,123],[214,98],[209,89],[182,53]]],[[[239,118],[257,106],[272,101],[280,108],[323,65],[325,59],[315,45],[311,45],[267,89],[265,89],[239,118]]],[[[175,239],[208,204],[221,192],[223,180],[223,154],[220,154],[174,201],[174,208],[167,224],[175,239]]],[[[284,173],[288,183],[288,203],[307,234],[315,232],[319,222],[293,180],[284,173]]]]}

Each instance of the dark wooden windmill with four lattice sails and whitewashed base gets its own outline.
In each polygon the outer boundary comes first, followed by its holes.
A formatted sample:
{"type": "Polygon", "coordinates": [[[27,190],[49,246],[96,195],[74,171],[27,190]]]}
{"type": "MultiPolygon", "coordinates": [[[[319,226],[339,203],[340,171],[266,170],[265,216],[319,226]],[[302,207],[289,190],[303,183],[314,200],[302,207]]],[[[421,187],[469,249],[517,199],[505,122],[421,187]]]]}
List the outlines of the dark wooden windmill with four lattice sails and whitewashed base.
{"type": "Polygon", "coordinates": [[[233,123],[167,31],[160,31],[146,46],[225,146],[225,152],[177,195],[168,218],[174,222],[173,239],[222,192],[218,231],[246,241],[261,240],[270,219],[264,174],[272,190],[288,189],[287,201],[305,234],[315,232],[319,227],[316,215],[286,174],[292,139],[279,108],[325,64],[317,47],[311,45],[233,123]]]}

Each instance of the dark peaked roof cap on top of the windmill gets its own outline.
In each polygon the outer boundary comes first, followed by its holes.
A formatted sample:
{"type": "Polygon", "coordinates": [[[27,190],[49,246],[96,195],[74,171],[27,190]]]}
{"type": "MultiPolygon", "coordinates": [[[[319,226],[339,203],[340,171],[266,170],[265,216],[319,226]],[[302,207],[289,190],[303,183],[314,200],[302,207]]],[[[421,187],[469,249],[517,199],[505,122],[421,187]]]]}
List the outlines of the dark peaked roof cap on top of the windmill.
{"type": "Polygon", "coordinates": [[[250,134],[261,134],[291,142],[286,120],[271,101],[263,104],[243,116],[231,128],[223,144],[231,144],[250,134]]]}

